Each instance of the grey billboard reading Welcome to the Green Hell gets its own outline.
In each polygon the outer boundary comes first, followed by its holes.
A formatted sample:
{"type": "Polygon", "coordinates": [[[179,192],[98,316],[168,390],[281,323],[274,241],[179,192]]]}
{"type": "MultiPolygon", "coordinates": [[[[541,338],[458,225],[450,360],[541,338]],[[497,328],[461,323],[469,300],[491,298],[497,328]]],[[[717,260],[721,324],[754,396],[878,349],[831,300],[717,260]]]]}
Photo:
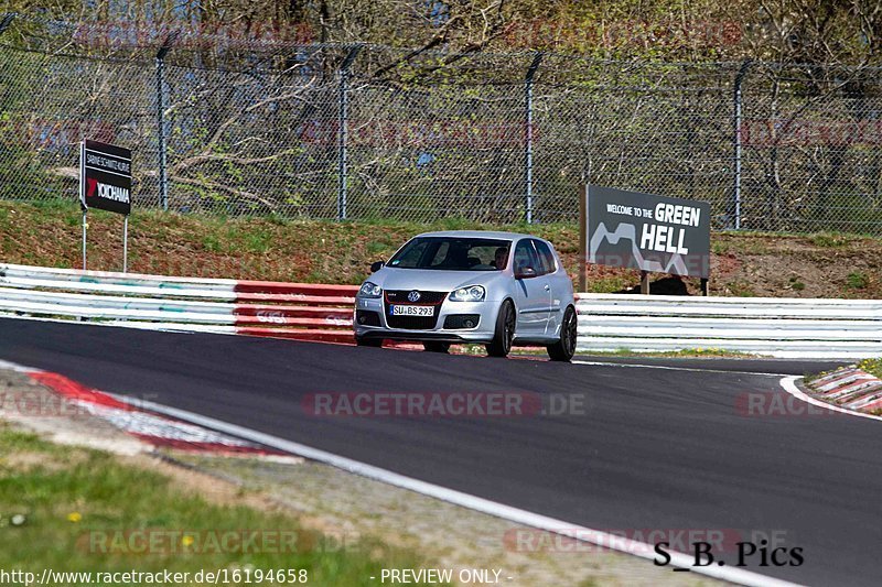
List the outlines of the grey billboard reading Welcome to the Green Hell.
{"type": "Polygon", "coordinates": [[[588,263],[710,275],[710,204],[589,185],[581,203],[588,263]]]}

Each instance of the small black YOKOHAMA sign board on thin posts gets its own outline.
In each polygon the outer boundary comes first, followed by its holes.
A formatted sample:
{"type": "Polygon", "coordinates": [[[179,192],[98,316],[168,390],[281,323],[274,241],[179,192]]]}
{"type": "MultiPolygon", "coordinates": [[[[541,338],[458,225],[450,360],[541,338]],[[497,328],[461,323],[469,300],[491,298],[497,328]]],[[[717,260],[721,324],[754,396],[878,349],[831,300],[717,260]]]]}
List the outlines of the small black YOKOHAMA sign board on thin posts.
{"type": "Polygon", "coordinates": [[[79,173],[84,210],[131,213],[131,150],[87,139],[79,146],[79,173]]]}

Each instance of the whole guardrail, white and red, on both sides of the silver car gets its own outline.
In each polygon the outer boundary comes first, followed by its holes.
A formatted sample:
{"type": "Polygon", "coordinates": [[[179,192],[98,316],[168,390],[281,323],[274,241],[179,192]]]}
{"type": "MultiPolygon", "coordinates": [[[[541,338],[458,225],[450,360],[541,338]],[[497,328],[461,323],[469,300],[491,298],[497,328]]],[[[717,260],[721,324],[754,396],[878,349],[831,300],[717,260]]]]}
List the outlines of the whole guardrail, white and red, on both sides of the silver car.
{"type": "MultiPolygon", "coordinates": [[[[351,343],[351,285],[0,264],[0,314],[351,343]]],[[[578,294],[580,351],[882,356],[882,301],[578,294]]]]}

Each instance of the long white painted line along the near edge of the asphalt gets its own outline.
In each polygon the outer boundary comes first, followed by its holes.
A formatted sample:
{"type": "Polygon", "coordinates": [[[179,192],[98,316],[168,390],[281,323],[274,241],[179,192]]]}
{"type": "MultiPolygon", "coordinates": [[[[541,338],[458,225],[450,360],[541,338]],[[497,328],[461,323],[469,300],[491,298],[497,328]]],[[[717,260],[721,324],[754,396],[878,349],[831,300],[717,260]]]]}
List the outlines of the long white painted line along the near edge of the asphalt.
{"type": "MultiPolygon", "coordinates": [[[[375,479],[377,481],[381,481],[395,487],[400,487],[402,489],[408,489],[410,491],[416,491],[417,493],[440,499],[442,501],[447,501],[455,506],[467,508],[470,510],[486,513],[496,518],[502,518],[503,520],[508,520],[510,522],[515,522],[518,524],[536,528],[539,530],[545,530],[547,532],[560,534],[562,536],[568,536],[578,540],[580,542],[595,544],[599,546],[603,546],[605,548],[620,551],[649,561],[655,559],[656,556],[654,552],[655,546],[652,544],[622,539],[621,536],[601,532],[599,530],[591,530],[589,528],[572,524],[570,522],[564,522],[562,520],[556,520],[553,518],[548,518],[546,515],[514,508],[512,506],[506,506],[504,503],[498,503],[484,498],[478,498],[476,496],[471,496],[469,493],[463,493],[454,489],[449,489],[427,481],[420,481],[419,479],[406,477],[404,475],[399,475],[390,470],[381,469],[379,467],[367,465],[365,463],[361,463],[358,460],[335,455],[333,453],[327,453],[319,448],[313,448],[311,446],[306,446],[300,443],[286,441],[284,438],[279,438],[278,436],[272,436],[269,434],[265,434],[262,432],[257,432],[250,428],[238,426],[236,424],[229,424],[227,422],[223,422],[212,417],[194,414],[193,412],[187,412],[185,410],[179,410],[176,407],[170,407],[166,405],[144,400],[132,400],[125,395],[117,395],[112,393],[110,395],[122,402],[131,403],[142,409],[152,410],[161,414],[184,420],[186,422],[191,422],[193,424],[197,424],[206,428],[212,428],[217,432],[224,432],[226,434],[238,436],[240,438],[262,444],[265,446],[270,446],[272,448],[278,448],[287,453],[292,453],[319,463],[324,463],[325,465],[331,465],[333,467],[349,472],[354,472],[356,475],[361,475],[363,477],[367,477],[369,479],[375,479]]],[[[738,585],[749,585],[757,587],[793,587],[798,585],[795,583],[766,577],[764,575],[760,575],[759,573],[754,573],[752,570],[733,568],[731,566],[727,567],[727,566],[709,565],[702,567],[695,567],[692,566],[695,564],[695,557],[692,557],[691,555],[678,552],[670,552],[669,555],[670,555],[671,568],[673,567],[690,568],[695,573],[707,575],[709,577],[713,577],[721,580],[727,580],[729,583],[734,583],[738,585]]]]}

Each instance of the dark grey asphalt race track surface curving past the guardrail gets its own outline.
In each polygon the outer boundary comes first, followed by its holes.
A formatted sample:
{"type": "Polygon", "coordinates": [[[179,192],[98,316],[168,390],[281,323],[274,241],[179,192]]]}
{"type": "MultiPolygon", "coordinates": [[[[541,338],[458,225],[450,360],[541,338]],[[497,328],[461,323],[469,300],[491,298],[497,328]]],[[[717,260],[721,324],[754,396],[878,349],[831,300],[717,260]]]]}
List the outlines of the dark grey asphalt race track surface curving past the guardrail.
{"type": "MultiPolygon", "coordinates": [[[[779,376],[742,371],[802,374],[830,363],[561,365],[19,319],[0,319],[0,359],[573,524],[784,536],[805,563],[746,567],[772,577],[880,581],[882,422],[746,416],[738,407],[747,392],[789,398],[779,376]],[[310,393],[357,391],[583,393],[585,410],[430,418],[302,409],[310,393]]],[[[719,556],[734,563],[731,552],[719,556]]]]}

